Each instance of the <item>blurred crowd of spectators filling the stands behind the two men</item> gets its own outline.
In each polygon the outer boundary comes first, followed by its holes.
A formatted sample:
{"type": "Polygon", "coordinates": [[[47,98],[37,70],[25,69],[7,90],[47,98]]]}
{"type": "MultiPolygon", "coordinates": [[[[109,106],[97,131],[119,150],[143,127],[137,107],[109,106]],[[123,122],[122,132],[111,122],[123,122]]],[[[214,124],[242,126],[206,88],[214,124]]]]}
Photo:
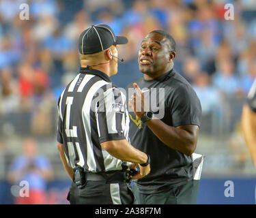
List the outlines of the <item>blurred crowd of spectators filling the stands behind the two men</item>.
{"type": "Polygon", "coordinates": [[[256,76],[253,0],[1,0],[1,131],[21,125],[35,135],[55,132],[57,99],[79,70],[78,37],[97,23],[128,37],[118,48],[125,60],[113,76],[119,87],[141,76],[137,52],[154,29],[175,39],[174,68],[193,84],[203,114],[221,116],[227,99],[244,99],[256,76]],[[20,20],[22,3],[29,20],[20,20]],[[234,5],[234,20],[225,20],[225,3],[234,5]]]}

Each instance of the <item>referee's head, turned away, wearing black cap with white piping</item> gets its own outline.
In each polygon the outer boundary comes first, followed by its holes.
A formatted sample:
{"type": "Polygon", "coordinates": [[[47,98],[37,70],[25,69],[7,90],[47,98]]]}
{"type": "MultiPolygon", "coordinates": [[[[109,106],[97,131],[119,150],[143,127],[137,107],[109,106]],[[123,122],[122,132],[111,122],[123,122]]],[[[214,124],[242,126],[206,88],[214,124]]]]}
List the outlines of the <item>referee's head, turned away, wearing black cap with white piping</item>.
{"type": "Polygon", "coordinates": [[[117,74],[117,44],[127,44],[108,25],[92,25],[79,37],[81,67],[98,68],[109,76],[117,74]]]}

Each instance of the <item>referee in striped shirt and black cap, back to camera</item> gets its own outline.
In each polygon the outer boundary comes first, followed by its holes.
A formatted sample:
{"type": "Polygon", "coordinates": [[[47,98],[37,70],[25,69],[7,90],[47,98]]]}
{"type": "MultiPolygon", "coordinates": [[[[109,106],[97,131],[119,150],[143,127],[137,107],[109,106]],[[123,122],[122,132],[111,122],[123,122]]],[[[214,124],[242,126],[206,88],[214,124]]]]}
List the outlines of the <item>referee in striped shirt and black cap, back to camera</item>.
{"type": "Polygon", "coordinates": [[[70,204],[133,204],[130,178],[150,172],[150,157],[129,143],[126,97],[109,78],[117,74],[116,46],[127,42],[108,25],[79,37],[81,69],[58,102],[57,149],[73,181],[70,204]]]}

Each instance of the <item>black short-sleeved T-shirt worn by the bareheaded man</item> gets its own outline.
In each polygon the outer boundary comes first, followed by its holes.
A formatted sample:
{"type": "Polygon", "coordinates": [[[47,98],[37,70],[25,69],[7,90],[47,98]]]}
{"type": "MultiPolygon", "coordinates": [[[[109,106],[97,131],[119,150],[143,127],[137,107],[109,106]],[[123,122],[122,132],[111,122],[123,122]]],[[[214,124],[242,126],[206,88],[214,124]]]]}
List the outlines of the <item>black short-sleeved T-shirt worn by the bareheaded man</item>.
{"type": "MultiPolygon", "coordinates": [[[[150,109],[156,113],[154,116],[164,123],[173,127],[189,124],[200,127],[201,104],[193,88],[180,74],[171,70],[155,80],[144,80],[141,77],[134,82],[137,82],[142,90],[150,90],[146,92],[149,95],[147,99],[150,100],[150,109]]],[[[126,93],[131,94],[129,88],[133,88],[132,83],[126,87],[126,93]]],[[[150,174],[135,182],[139,191],[148,194],[159,193],[171,189],[171,185],[186,183],[192,179],[192,157],[169,148],[133,111],[129,109],[129,113],[130,142],[151,157],[150,174]]]]}

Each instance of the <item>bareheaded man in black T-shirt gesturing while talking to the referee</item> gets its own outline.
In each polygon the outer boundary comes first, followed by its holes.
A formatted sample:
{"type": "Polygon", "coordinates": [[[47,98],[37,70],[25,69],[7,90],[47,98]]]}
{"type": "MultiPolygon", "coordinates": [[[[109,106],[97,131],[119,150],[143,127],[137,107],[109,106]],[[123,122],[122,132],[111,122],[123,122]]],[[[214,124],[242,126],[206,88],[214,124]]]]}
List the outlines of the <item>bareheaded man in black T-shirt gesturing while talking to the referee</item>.
{"type": "Polygon", "coordinates": [[[139,49],[139,70],[143,77],[128,85],[129,137],[132,145],[151,157],[150,174],[132,187],[141,204],[195,204],[199,181],[193,180],[192,154],[197,146],[201,104],[190,84],[173,69],[175,41],[165,31],[152,31],[139,49]],[[143,89],[149,89],[144,102],[143,89]],[[160,95],[163,88],[164,96],[160,95]],[[157,89],[156,92],[152,91],[157,89]],[[158,96],[152,96],[158,95],[158,96]],[[158,105],[150,104],[156,97],[158,105]],[[144,104],[138,105],[138,102],[144,104]],[[163,103],[164,108],[159,108],[163,103]],[[152,108],[153,107],[153,108],[152,108]],[[150,108],[145,111],[144,108],[150,108]],[[158,108],[158,111],[156,111],[158,108]],[[159,111],[164,116],[158,116],[159,111]]]}

